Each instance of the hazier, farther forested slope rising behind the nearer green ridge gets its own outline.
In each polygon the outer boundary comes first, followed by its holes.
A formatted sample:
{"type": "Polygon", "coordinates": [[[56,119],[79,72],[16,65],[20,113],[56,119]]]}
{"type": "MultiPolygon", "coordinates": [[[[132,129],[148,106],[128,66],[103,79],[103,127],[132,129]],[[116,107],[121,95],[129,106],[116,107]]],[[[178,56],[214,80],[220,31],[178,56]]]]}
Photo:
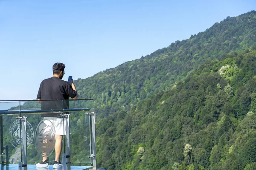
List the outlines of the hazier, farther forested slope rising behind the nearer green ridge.
{"type": "MultiPolygon", "coordinates": [[[[184,80],[207,60],[256,45],[256,11],[227,17],[204,32],[169,47],[75,81],[80,98],[95,99],[99,118],[120,110],[184,80]]],[[[121,57],[121,55],[120,55],[121,57]]]]}

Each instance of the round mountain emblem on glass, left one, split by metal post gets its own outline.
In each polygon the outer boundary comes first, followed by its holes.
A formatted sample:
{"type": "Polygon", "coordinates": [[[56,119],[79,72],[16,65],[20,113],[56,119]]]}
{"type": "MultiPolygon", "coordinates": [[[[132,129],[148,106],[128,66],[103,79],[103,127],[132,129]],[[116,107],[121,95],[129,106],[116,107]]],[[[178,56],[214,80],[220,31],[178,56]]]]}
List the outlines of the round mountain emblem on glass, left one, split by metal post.
{"type": "MultiPolygon", "coordinates": [[[[22,136],[22,126],[20,125],[20,120],[16,120],[12,123],[9,128],[9,138],[14,147],[18,148],[20,146],[22,136]]],[[[27,147],[32,143],[34,139],[34,130],[32,125],[26,121],[26,137],[27,137],[27,147]]]]}

